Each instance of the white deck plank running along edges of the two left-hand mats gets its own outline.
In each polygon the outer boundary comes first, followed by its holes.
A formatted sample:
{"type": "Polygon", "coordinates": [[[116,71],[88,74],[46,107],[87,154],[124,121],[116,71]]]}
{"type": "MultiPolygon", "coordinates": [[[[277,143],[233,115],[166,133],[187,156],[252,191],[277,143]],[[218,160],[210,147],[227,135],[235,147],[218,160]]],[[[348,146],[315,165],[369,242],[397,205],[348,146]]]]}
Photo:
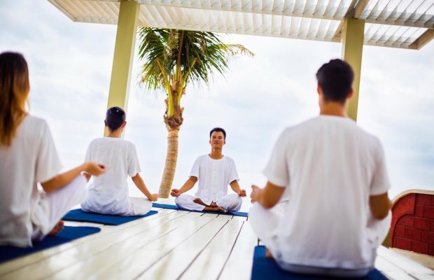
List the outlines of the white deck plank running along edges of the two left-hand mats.
{"type": "MultiPolygon", "coordinates": [[[[167,210],[169,210],[169,209],[167,209],[167,210]]],[[[170,214],[172,212],[174,212],[174,210],[160,211],[160,212],[158,212],[157,215],[149,216],[149,217],[146,217],[143,219],[139,219],[137,221],[132,221],[130,223],[125,223],[124,225],[118,225],[118,226],[106,225],[106,226],[104,226],[104,228],[102,228],[102,231],[97,233],[97,234],[89,235],[87,237],[83,237],[80,239],[76,239],[76,240],[73,240],[69,243],[62,244],[60,246],[55,246],[52,248],[48,248],[48,249],[43,250],[43,251],[38,251],[38,252],[30,254],[30,255],[25,255],[21,258],[16,258],[16,259],[10,260],[8,262],[3,262],[0,265],[0,276],[2,276],[3,274],[13,272],[17,269],[20,269],[20,268],[25,267],[27,265],[33,264],[33,263],[38,262],[40,260],[50,258],[53,255],[56,255],[57,253],[69,250],[69,249],[73,248],[74,246],[78,246],[78,244],[83,244],[87,241],[92,241],[93,239],[99,239],[102,236],[109,234],[111,232],[118,232],[118,231],[124,230],[125,228],[131,228],[131,227],[138,225],[139,223],[143,223],[143,221],[151,221],[155,218],[158,218],[160,216],[165,216],[165,215],[170,214]]]]}

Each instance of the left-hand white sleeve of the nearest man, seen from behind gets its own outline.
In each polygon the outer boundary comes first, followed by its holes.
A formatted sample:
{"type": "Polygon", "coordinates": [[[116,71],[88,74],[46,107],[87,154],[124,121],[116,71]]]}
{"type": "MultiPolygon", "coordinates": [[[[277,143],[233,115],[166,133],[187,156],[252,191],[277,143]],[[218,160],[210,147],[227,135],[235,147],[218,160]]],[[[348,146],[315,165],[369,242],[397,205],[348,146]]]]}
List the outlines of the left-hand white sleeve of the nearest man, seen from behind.
{"type": "Polygon", "coordinates": [[[289,185],[288,160],[286,159],[286,130],[281,133],[274,144],[269,162],[264,169],[264,175],[270,183],[286,188],[289,185]]]}

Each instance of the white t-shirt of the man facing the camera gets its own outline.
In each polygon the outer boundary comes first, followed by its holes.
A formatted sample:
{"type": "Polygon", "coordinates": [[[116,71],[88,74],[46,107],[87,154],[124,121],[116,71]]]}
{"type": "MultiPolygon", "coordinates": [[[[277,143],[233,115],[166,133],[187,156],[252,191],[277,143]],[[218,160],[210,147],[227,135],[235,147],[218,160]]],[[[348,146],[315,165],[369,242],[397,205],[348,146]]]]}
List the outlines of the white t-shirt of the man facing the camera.
{"type": "Polygon", "coordinates": [[[234,160],[225,155],[220,160],[201,155],[196,159],[190,176],[197,177],[198,190],[195,195],[206,204],[228,195],[228,185],[239,180],[234,160]]]}

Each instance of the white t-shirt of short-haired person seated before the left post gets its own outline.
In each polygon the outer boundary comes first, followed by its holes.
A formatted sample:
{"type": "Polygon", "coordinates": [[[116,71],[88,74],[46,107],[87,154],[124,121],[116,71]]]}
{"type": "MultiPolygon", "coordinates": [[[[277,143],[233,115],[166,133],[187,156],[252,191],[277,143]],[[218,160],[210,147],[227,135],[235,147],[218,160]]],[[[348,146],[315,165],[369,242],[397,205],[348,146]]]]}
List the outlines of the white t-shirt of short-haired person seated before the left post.
{"type": "Polygon", "coordinates": [[[100,162],[106,173],[92,176],[85,201],[85,211],[123,215],[129,213],[128,176],[141,172],[136,146],[120,138],[103,137],[92,140],[85,161],[100,162]]]}

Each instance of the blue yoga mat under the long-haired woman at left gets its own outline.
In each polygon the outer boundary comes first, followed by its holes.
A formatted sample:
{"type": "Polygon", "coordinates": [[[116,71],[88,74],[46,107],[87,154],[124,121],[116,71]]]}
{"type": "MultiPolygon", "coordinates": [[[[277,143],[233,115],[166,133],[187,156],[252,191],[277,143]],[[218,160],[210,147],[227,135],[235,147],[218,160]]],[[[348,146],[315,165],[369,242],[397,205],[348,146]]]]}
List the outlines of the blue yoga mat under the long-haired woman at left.
{"type": "Polygon", "coordinates": [[[44,239],[38,242],[34,242],[33,247],[19,248],[14,246],[0,246],[0,262],[6,262],[6,260],[12,260],[22,255],[28,255],[35,253],[46,248],[57,246],[60,244],[68,243],[73,239],[92,235],[101,231],[99,228],[93,227],[67,227],[65,226],[61,232],[55,236],[48,235],[44,239]]]}

